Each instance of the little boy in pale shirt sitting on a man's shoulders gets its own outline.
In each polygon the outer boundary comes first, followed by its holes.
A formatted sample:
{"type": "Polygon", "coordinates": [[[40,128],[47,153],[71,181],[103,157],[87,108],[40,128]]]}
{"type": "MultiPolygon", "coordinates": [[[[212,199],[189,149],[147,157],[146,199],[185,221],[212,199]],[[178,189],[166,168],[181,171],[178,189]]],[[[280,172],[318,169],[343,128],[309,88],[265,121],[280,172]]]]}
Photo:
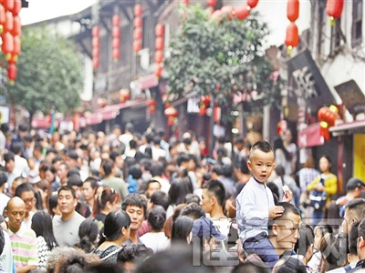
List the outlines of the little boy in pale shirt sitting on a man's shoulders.
{"type": "MultiPolygon", "coordinates": [[[[274,150],[266,141],[258,141],[251,148],[247,167],[252,177],[241,193],[236,197],[237,224],[240,239],[247,253],[257,254],[264,262],[275,263],[276,250],[268,238],[269,218],[282,216],[284,208],[275,206],[266,179],[275,167],[274,150]]],[[[282,201],[290,202],[292,193],[286,190],[282,201]]]]}

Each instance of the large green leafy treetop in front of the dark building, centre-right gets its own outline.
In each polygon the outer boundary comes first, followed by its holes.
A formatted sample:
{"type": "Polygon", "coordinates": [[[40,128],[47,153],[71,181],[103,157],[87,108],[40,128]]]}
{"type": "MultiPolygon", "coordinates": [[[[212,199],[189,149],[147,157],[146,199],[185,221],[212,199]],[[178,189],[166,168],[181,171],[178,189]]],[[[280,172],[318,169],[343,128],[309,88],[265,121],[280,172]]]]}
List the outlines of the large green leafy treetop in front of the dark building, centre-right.
{"type": "Polygon", "coordinates": [[[200,5],[182,7],[182,12],[164,63],[169,94],[213,95],[227,111],[235,109],[236,94],[254,98],[248,99],[250,111],[272,104],[280,82],[271,77],[274,68],[263,47],[268,27],[258,13],[245,20],[212,20],[200,5]]]}

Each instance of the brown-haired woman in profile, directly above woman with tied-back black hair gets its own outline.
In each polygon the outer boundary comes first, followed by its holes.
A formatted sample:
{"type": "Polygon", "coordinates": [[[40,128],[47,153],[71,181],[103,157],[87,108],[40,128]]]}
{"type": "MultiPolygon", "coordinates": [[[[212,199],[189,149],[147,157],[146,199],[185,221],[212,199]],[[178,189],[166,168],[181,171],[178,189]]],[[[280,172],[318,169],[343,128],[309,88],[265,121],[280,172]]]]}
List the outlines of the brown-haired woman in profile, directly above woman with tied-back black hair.
{"type": "Polygon", "coordinates": [[[103,233],[107,215],[120,209],[120,199],[119,192],[112,187],[105,187],[98,199],[95,200],[91,217],[95,217],[99,221],[100,235],[103,233]]]}

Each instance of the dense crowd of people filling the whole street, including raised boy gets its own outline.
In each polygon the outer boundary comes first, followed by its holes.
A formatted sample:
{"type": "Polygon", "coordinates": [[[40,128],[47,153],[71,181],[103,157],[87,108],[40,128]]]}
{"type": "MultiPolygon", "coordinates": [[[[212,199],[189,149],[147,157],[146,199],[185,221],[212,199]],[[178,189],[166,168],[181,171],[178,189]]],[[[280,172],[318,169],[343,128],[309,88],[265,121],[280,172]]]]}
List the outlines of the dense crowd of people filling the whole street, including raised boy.
{"type": "MultiPolygon", "coordinates": [[[[354,272],[365,184],[327,156],[131,123],[109,135],[0,131],[0,272],[354,272]],[[318,169],[316,167],[318,162],[318,169]]],[[[365,263],[364,263],[365,267],[365,263]]]]}

